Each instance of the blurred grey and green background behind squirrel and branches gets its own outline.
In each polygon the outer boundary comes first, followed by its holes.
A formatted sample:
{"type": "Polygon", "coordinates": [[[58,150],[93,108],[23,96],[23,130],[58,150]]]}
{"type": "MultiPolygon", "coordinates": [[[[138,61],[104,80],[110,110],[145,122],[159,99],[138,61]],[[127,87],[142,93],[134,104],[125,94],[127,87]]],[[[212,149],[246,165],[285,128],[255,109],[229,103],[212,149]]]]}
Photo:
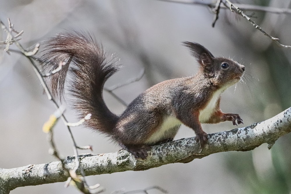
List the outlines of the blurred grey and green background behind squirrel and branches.
{"type": "MultiPolygon", "coordinates": [[[[201,1],[212,2],[212,1],[201,1]]],[[[290,8],[290,1],[246,0],[245,4],[290,8]]],[[[291,50],[278,47],[244,18],[221,9],[212,28],[214,15],[207,6],[170,3],[157,0],[84,1],[84,0],[0,0],[0,18],[7,17],[18,31],[26,48],[64,29],[89,31],[102,42],[108,54],[120,58],[123,68],[105,87],[138,77],[140,81],[114,90],[125,102],[166,79],[194,74],[195,59],[181,44],[193,41],[204,45],[214,56],[230,57],[246,66],[245,82],[229,88],[222,95],[221,109],[239,113],[244,125],[271,118],[291,106],[291,50]]],[[[246,11],[266,32],[291,45],[291,15],[246,11]]],[[[8,24],[7,24],[8,25],[8,24]]],[[[2,32],[0,32],[2,33],[2,32]]],[[[1,38],[6,35],[1,34],[1,38]]],[[[15,48],[15,47],[11,47],[15,48]]],[[[115,113],[125,109],[107,92],[104,98],[115,113]]],[[[70,107],[69,105],[67,107],[70,107]]],[[[43,123],[55,111],[43,94],[29,61],[19,54],[0,51],[0,168],[56,161],[48,154],[47,134],[43,123]]],[[[66,111],[71,122],[74,110],[66,111]]],[[[231,122],[203,124],[207,133],[230,130],[231,122]]],[[[113,145],[98,133],[73,128],[78,145],[93,145],[93,153],[116,152],[113,145]]],[[[176,139],[195,136],[181,127],[176,139]]],[[[58,150],[73,155],[67,129],[60,121],[55,127],[58,150]]],[[[118,172],[86,177],[89,184],[100,183],[104,193],[124,189],[132,191],[157,185],[169,193],[290,193],[291,134],[280,137],[271,150],[267,144],[248,152],[212,154],[190,163],[168,164],[146,171],[118,172]]],[[[88,153],[83,150],[79,153],[88,153]]],[[[28,186],[11,191],[18,193],[79,193],[64,188],[64,183],[28,186]]],[[[149,193],[161,193],[149,191],[149,193]]]]}

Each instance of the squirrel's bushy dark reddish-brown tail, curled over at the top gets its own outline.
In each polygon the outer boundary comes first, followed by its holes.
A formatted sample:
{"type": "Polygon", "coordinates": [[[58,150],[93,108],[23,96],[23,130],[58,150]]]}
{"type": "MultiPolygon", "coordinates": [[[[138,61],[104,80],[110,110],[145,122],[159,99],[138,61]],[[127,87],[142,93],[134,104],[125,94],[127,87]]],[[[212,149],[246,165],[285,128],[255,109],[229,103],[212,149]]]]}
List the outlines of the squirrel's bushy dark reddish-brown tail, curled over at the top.
{"type": "Polygon", "coordinates": [[[55,70],[61,62],[66,63],[59,72],[47,77],[52,95],[60,99],[63,97],[67,72],[72,70],[68,88],[73,96],[74,108],[80,111],[80,118],[91,113],[91,119],[85,124],[112,135],[118,116],[107,108],[102,91],[105,81],[119,69],[116,60],[107,57],[88,33],[59,33],[47,40],[44,49],[37,60],[45,72],[55,70]]]}

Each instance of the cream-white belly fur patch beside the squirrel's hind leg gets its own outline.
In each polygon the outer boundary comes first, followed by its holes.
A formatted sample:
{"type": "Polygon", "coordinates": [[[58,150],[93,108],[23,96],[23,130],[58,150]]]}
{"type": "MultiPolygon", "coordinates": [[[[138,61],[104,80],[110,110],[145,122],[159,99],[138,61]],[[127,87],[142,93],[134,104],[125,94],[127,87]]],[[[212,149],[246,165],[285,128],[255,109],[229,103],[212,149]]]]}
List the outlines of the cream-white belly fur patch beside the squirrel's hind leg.
{"type": "Polygon", "coordinates": [[[163,123],[161,127],[153,133],[150,138],[148,138],[145,143],[146,144],[152,144],[157,143],[158,141],[173,138],[178,129],[173,129],[176,126],[181,125],[181,121],[173,116],[165,116],[163,119],[163,123]]]}

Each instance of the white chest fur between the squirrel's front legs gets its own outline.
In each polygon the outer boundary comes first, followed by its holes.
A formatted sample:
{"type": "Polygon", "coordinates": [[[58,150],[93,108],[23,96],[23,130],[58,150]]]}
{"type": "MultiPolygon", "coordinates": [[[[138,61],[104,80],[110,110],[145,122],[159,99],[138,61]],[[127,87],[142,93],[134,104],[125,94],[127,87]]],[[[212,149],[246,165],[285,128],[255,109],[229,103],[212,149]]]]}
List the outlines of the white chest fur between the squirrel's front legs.
{"type": "Polygon", "coordinates": [[[221,95],[221,93],[225,90],[225,88],[221,88],[220,90],[217,90],[216,92],[214,92],[211,100],[208,102],[207,106],[200,110],[199,112],[199,121],[200,123],[205,123],[208,121],[208,119],[210,118],[210,116],[213,113],[214,108],[216,107],[216,103],[217,100],[219,98],[219,96],[221,95]]]}

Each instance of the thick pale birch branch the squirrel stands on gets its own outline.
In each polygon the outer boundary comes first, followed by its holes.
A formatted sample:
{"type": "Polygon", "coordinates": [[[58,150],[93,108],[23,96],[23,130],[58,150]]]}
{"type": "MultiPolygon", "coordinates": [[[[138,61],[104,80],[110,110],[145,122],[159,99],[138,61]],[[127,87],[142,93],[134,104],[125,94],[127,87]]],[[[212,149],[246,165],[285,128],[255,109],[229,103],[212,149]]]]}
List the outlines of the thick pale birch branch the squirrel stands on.
{"type": "MultiPolygon", "coordinates": [[[[78,157],[87,176],[127,170],[139,171],[169,163],[187,163],[218,152],[248,151],[263,143],[268,143],[270,149],[280,136],[290,132],[291,107],[273,118],[248,127],[208,134],[208,143],[202,152],[199,152],[196,138],[192,137],[152,146],[146,160],[137,160],[123,149],[114,153],[82,154],[78,157]]],[[[67,169],[74,169],[75,161],[75,156],[70,156],[63,162],[67,169]]],[[[79,170],[76,173],[79,174],[79,170]]],[[[0,193],[9,193],[20,186],[62,182],[67,178],[60,161],[0,169],[0,193]]]]}

